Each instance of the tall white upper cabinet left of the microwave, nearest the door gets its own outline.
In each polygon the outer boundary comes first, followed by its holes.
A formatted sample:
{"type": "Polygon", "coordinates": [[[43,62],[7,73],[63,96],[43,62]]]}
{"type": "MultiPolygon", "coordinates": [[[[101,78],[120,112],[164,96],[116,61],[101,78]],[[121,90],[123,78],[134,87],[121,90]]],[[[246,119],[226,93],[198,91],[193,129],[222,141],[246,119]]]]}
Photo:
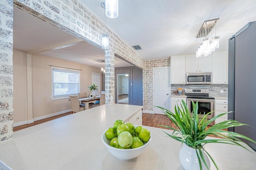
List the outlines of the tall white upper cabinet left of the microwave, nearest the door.
{"type": "Polygon", "coordinates": [[[171,57],[171,83],[185,84],[185,55],[175,55],[171,57]]]}

